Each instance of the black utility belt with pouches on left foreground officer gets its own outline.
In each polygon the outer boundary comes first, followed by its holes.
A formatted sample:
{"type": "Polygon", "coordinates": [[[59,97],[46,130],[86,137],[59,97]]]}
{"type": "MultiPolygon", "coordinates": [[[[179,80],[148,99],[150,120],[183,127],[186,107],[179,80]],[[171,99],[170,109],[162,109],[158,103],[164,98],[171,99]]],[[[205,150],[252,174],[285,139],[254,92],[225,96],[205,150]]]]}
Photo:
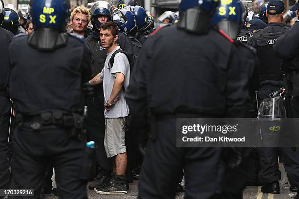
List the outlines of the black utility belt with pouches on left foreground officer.
{"type": "Polygon", "coordinates": [[[48,111],[37,115],[16,115],[16,122],[22,128],[43,130],[57,127],[75,127],[82,129],[84,117],[77,113],[64,111],[48,111]]]}

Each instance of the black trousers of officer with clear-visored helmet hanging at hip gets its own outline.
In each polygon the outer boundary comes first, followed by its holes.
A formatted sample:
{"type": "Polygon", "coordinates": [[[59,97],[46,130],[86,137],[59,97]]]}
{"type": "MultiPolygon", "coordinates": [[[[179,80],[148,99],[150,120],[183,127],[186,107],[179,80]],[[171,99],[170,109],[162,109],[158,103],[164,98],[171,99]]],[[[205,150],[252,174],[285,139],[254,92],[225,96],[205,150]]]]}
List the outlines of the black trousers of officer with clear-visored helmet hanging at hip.
{"type": "MultiPolygon", "coordinates": [[[[269,94],[278,91],[281,86],[262,85],[257,97],[259,104],[265,98],[270,98],[269,94]]],[[[281,172],[278,169],[278,148],[258,148],[260,162],[260,172],[258,179],[260,183],[271,183],[281,179],[281,172]]]]}

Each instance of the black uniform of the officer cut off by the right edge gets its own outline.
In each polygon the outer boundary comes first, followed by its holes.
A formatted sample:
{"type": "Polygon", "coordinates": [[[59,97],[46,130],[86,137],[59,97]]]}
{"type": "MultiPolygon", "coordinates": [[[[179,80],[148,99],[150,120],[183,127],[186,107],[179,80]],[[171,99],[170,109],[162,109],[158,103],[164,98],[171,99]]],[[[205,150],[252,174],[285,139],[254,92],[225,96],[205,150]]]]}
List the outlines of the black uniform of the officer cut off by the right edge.
{"type": "MultiPolygon", "coordinates": [[[[289,77],[290,92],[293,96],[291,103],[291,118],[299,118],[299,95],[296,88],[296,76],[294,74],[299,73],[299,56],[298,56],[298,45],[299,45],[299,22],[296,22],[292,28],[280,36],[275,44],[274,51],[276,54],[283,59],[281,69],[285,71],[289,77]],[[293,80],[293,81],[292,81],[293,80]]],[[[295,126],[295,132],[298,132],[298,127],[295,126]]],[[[299,187],[299,148],[292,150],[291,148],[282,148],[284,159],[284,168],[287,171],[288,180],[293,187],[299,187]]]]}

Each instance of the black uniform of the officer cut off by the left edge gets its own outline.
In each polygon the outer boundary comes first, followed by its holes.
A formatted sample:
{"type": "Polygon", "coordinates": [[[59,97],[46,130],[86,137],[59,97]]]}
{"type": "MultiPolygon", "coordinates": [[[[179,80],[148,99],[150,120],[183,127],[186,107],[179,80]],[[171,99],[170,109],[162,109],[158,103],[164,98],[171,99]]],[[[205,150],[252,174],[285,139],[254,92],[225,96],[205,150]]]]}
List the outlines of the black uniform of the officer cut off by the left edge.
{"type": "Polygon", "coordinates": [[[7,86],[10,73],[8,46],[13,36],[11,32],[0,27],[0,189],[8,188],[10,181],[7,149],[10,101],[7,86]]]}

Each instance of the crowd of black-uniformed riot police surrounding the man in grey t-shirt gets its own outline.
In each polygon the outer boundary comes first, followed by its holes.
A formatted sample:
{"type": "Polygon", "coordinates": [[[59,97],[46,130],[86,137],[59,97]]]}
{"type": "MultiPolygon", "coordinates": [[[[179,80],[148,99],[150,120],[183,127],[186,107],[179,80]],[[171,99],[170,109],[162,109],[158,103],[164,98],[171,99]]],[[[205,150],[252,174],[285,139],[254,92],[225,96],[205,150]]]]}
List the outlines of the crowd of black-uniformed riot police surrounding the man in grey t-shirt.
{"type": "MultiPolygon", "coordinates": [[[[296,1],[290,10],[298,9],[296,1]]],[[[68,0],[31,0],[27,13],[0,0],[1,189],[43,197],[54,167],[59,198],[84,199],[95,162],[98,180],[88,188],[112,183],[103,86],[88,84],[107,56],[99,40],[104,16],[120,29],[118,45],[138,57],[125,96],[126,179],[140,179],[139,198],[174,198],[182,171],[186,198],[241,199],[246,185],[279,194],[278,157],[290,190],[299,191],[296,148],[176,147],[177,118],[255,118],[256,106],[282,87],[287,117],[299,117],[299,22],[282,23],[283,1],[265,2],[249,17],[240,0],[181,0],[179,17],[166,12],[155,31],[134,0],[96,1],[85,40],[65,32],[69,11],[68,0]],[[29,18],[34,32],[20,34],[29,18]]]]}

